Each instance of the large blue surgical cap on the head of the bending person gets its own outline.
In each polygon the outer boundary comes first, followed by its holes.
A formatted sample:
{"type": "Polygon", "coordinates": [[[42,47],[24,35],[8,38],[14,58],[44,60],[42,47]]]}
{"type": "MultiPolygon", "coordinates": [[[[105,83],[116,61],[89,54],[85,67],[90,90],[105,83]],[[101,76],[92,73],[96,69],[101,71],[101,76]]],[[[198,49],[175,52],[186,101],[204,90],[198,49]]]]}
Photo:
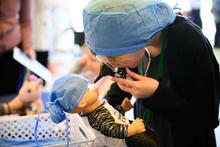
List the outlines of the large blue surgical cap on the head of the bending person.
{"type": "Polygon", "coordinates": [[[86,43],[98,55],[135,52],[175,18],[161,0],[92,0],[83,11],[86,43]]]}

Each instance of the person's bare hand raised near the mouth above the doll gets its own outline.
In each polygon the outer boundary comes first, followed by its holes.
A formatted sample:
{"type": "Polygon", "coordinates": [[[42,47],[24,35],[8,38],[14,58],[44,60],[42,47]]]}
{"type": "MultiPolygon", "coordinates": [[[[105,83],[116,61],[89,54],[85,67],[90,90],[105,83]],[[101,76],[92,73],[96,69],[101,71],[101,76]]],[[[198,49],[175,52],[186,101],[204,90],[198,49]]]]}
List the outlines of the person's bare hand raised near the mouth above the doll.
{"type": "Polygon", "coordinates": [[[129,92],[136,98],[147,98],[154,94],[159,82],[155,79],[138,75],[126,68],[128,76],[133,79],[112,78],[121,90],[129,92]]]}

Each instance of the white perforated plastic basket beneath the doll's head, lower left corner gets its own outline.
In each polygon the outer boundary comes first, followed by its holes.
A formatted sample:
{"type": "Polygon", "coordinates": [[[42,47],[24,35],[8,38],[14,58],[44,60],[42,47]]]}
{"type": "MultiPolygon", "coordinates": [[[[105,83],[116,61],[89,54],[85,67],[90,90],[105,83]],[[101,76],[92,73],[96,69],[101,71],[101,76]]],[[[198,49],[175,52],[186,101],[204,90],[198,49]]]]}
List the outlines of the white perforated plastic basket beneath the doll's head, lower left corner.
{"type": "Polygon", "coordinates": [[[60,124],[53,123],[48,113],[40,114],[35,131],[37,118],[38,115],[0,117],[0,146],[60,147],[69,141],[69,146],[91,147],[99,142],[78,114],[68,114],[60,124]]]}

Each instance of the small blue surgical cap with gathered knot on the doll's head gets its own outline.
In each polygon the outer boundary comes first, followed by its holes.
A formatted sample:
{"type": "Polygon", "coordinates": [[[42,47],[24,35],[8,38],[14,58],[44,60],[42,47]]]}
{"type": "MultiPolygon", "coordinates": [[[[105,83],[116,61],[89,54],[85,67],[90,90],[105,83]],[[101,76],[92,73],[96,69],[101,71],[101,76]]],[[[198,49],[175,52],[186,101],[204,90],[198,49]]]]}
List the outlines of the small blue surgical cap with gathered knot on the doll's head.
{"type": "Polygon", "coordinates": [[[77,74],[67,74],[57,79],[49,94],[46,109],[55,123],[62,122],[66,117],[64,112],[70,112],[80,102],[88,89],[88,81],[77,74]]]}

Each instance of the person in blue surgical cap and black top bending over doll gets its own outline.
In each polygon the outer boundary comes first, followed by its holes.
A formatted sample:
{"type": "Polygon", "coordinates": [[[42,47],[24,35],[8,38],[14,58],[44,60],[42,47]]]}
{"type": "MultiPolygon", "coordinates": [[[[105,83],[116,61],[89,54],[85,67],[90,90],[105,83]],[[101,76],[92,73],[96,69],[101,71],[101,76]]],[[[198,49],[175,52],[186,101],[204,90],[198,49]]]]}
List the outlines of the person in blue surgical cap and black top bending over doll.
{"type": "Polygon", "coordinates": [[[93,0],[83,11],[94,56],[130,78],[113,77],[105,99],[136,98],[161,147],[215,147],[219,65],[201,29],[160,0],[93,0]]]}

